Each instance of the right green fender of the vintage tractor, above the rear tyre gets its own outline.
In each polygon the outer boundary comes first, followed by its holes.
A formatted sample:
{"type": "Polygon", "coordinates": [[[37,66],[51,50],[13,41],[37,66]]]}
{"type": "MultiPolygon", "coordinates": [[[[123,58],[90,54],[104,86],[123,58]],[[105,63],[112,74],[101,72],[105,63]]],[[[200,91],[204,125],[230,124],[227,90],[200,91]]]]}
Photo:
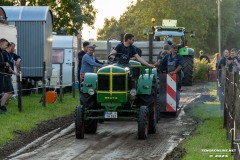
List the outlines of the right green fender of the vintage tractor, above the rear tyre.
{"type": "Polygon", "coordinates": [[[138,79],[137,94],[152,94],[153,74],[142,74],[138,79]]]}

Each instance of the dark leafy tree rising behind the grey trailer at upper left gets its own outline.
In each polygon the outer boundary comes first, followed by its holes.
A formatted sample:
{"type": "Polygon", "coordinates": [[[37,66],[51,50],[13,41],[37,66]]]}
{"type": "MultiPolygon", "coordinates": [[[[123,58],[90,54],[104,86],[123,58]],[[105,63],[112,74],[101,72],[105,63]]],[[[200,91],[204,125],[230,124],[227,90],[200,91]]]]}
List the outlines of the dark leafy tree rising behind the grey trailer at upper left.
{"type": "Polygon", "coordinates": [[[65,29],[66,34],[76,33],[83,24],[93,26],[96,9],[94,0],[8,0],[2,5],[50,6],[53,12],[53,30],[58,34],[65,29]],[[10,3],[11,2],[11,3],[10,3]]]}

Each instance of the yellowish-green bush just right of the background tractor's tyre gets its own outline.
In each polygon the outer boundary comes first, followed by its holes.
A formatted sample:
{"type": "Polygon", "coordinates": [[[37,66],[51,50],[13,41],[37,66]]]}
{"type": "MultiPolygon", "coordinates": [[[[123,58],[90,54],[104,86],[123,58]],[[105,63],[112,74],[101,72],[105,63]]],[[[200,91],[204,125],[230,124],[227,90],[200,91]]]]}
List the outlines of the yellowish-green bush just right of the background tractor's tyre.
{"type": "Polygon", "coordinates": [[[194,63],[193,82],[207,82],[210,66],[200,61],[194,63]]]}

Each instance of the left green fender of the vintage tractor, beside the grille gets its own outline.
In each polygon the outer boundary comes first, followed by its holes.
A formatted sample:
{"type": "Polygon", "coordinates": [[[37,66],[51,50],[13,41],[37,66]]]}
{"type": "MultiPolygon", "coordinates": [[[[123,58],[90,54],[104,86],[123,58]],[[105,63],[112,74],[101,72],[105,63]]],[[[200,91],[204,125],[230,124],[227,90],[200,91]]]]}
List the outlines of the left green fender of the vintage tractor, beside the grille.
{"type": "Polygon", "coordinates": [[[84,81],[81,84],[82,92],[88,93],[89,89],[96,90],[97,88],[97,74],[96,73],[86,73],[84,76],[84,81]]]}

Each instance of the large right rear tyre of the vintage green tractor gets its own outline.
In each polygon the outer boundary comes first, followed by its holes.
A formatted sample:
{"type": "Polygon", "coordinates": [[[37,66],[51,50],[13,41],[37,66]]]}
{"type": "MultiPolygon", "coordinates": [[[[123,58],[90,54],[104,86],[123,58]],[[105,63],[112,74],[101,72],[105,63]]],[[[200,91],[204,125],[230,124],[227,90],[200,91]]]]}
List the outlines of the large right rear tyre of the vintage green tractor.
{"type": "Polygon", "coordinates": [[[148,106],[149,111],[149,129],[148,133],[153,134],[156,133],[156,103],[154,103],[155,95],[140,95],[139,96],[139,106],[148,106]]]}

